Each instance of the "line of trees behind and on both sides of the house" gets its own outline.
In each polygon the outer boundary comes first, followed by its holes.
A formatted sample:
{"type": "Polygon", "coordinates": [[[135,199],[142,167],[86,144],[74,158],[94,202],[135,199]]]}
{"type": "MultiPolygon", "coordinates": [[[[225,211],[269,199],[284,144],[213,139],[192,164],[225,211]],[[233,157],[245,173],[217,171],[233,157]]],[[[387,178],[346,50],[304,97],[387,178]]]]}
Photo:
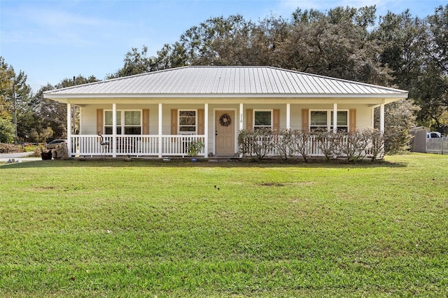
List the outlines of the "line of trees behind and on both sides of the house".
{"type": "MultiPolygon", "coordinates": [[[[425,125],[443,131],[448,125],[448,5],[427,17],[409,10],[377,17],[375,6],[336,7],[328,11],[297,8],[289,18],[269,15],[258,22],[242,15],[211,17],[187,29],[156,55],[132,48],[118,78],[189,65],[267,65],[322,76],[384,85],[409,91],[409,99],[386,105],[388,127],[425,125]],[[410,118],[409,118],[410,117],[410,118]],[[397,121],[404,123],[396,123],[397,121]]],[[[94,76],[64,79],[36,94],[22,71],[0,58],[0,141],[11,141],[12,83],[18,136],[43,141],[66,134],[66,106],[43,99],[45,90],[97,81],[94,76]]]]}

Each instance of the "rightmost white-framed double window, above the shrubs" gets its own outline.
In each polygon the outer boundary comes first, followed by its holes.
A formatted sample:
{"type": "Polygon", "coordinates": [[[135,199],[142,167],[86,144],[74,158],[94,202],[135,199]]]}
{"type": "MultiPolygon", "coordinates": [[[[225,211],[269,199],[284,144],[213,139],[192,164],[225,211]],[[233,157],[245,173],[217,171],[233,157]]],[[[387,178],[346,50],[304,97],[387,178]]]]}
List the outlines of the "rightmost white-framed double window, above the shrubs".
{"type": "MultiPolygon", "coordinates": [[[[309,130],[332,130],[333,129],[333,111],[310,111],[309,130]]],[[[349,112],[337,111],[337,131],[348,132],[349,131],[349,112]]]]}

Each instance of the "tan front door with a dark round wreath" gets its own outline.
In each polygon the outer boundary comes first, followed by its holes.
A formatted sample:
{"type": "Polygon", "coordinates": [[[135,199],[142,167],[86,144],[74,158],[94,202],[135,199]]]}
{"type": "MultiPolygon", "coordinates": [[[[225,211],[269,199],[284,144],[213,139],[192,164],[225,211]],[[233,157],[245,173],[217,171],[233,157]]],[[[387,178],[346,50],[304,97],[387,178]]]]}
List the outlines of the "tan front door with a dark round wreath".
{"type": "Polygon", "coordinates": [[[216,155],[235,155],[235,111],[216,111],[216,155]]]}

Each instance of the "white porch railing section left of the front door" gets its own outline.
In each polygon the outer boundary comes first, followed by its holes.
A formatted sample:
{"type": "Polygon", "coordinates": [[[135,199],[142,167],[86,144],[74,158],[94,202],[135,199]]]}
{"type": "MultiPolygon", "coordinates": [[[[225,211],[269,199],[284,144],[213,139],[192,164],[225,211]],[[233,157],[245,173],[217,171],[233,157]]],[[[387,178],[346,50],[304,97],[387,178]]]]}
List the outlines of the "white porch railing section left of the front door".
{"type": "MultiPolygon", "coordinates": [[[[187,156],[191,141],[205,142],[205,136],[183,135],[126,135],[116,136],[116,155],[132,156],[187,156]]],[[[70,155],[113,156],[113,136],[77,134],[71,136],[70,155]]],[[[199,156],[207,157],[202,148],[199,156]]]]}

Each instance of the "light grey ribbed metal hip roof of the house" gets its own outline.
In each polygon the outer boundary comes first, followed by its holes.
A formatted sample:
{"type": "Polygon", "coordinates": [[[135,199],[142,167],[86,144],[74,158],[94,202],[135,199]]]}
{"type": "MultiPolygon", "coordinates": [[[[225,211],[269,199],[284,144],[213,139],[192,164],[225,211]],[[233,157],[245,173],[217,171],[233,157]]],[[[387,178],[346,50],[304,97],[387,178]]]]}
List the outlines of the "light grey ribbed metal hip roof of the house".
{"type": "Polygon", "coordinates": [[[133,96],[407,97],[407,91],[270,66],[185,66],[44,92],[46,98],[133,96]]]}

